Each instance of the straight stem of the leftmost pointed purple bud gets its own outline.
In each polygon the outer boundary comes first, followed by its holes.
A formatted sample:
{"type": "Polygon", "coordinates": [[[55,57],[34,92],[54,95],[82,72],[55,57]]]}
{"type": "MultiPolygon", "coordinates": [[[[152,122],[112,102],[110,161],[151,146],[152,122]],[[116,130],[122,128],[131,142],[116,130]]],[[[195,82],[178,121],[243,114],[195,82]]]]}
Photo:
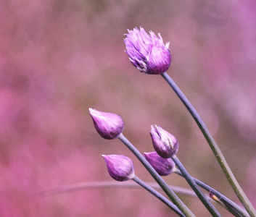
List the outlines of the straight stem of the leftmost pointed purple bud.
{"type": "Polygon", "coordinates": [[[149,174],[152,175],[154,180],[156,180],[156,182],[160,185],[160,187],[162,187],[162,190],[164,190],[166,195],[170,197],[170,200],[173,201],[173,203],[179,208],[179,210],[181,210],[181,212],[186,217],[191,217],[191,216],[195,217],[194,214],[191,212],[191,210],[189,210],[189,208],[187,208],[186,205],[183,204],[181,199],[177,197],[177,195],[173,192],[173,190],[170,189],[168,184],[165,183],[165,181],[161,178],[161,176],[157,174],[157,171],[155,171],[154,168],[150,165],[150,163],[146,161],[146,158],[144,158],[144,156],[141,155],[139,150],[137,150],[133,146],[133,144],[131,144],[131,142],[125,138],[123,133],[121,133],[118,136],[118,138],[126,145],[128,149],[131,150],[131,152],[139,159],[139,161],[141,161],[141,163],[145,166],[147,171],[149,171],[149,174]]]}

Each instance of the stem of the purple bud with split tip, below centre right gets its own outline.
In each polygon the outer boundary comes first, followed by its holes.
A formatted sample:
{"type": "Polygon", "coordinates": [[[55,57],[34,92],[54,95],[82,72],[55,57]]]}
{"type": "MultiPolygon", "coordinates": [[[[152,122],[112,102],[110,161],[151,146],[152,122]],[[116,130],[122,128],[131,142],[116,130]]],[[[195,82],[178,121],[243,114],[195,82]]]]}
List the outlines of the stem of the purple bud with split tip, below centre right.
{"type": "Polygon", "coordinates": [[[181,161],[177,158],[177,156],[172,157],[174,163],[178,167],[178,169],[181,171],[181,174],[186,179],[186,182],[189,183],[190,187],[194,192],[197,194],[197,197],[202,201],[202,203],[205,205],[207,210],[212,214],[213,217],[221,217],[218,210],[207,200],[205,197],[205,194],[202,192],[202,190],[199,189],[197,184],[194,182],[194,179],[189,175],[188,171],[186,171],[185,167],[182,165],[181,161]]]}

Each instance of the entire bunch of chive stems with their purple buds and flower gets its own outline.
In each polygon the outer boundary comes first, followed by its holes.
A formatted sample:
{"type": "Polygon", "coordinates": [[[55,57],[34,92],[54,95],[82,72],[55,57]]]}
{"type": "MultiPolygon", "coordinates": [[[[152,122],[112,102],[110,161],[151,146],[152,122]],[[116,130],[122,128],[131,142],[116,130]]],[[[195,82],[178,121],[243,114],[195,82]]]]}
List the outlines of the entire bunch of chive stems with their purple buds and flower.
{"type": "MultiPolygon", "coordinates": [[[[137,28],[133,30],[128,30],[128,34],[125,38],[125,46],[127,48],[126,53],[128,54],[130,61],[132,64],[139,69],[139,71],[144,72],[149,75],[161,75],[170,85],[171,88],[178,95],[178,98],[181,99],[182,103],[186,106],[191,116],[197,122],[199,129],[201,129],[205,139],[207,140],[212,152],[220,164],[220,167],[223,169],[228,182],[231,184],[231,187],[236,192],[237,197],[241,201],[245,210],[241,208],[239,205],[234,203],[225,195],[221,194],[217,190],[213,189],[209,185],[204,182],[199,181],[194,178],[186,171],[185,167],[181,163],[181,161],[176,156],[178,152],[178,140],[176,137],[171,135],[169,132],[165,131],[161,127],[157,127],[154,129],[152,127],[152,131],[150,135],[152,137],[152,142],[154,149],[157,154],[150,154],[152,158],[145,158],[142,154],[137,150],[133,144],[123,135],[124,122],[120,116],[116,114],[105,113],[101,111],[96,111],[95,109],[90,108],[90,114],[94,121],[94,126],[96,131],[101,135],[104,139],[112,140],[115,138],[120,139],[126,147],[131,150],[131,152],[136,156],[136,158],[141,161],[143,166],[149,171],[149,174],[152,175],[154,180],[157,182],[159,187],[165,192],[165,194],[169,197],[170,200],[163,197],[159,192],[154,190],[150,184],[146,184],[141,181],[134,174],[133,162],[130,158],[126,156],[103,156],[107,165],[107,170],[112,176],[113,179],[123,182],[129,179],[133,180],[141,187],[144,187],[145,190],[150,192],[152,195],[157,197],[162,203],[168,205],[178,216],[182,217],[194,217],[194,213],[189,210],[189,208],[183,203],[183,201],[176,195],[177,188],[170,187],[161,176],[166,176],[172,172],[178,174],[179,176],[183,176],[184,179],[188,182],[191,189],[194,191],[193,194],[191,192],[189,195],[197,195],[199,200],[205,205],[205,208],[210,212],[210,214],[214,217],[221,217],[219,211],[212,204],[212,201],[222,205],[226,208],[230,213],[237,217],[256,217],[255,208],[253,208],[252,204],[249,202],[247,196],[244,194],[243,190],[239,186],[239,183],[236,181],[234,174],[226,162],[223,153],[221,153],[220,148],[216,144],[209,130],[207,129],[205,123],[202,121],[201,117],[197,113],[196,109],[191,105],[186,96],[181,92],[175,82],[170,78],[170,76],[165,72],[170,66],[170,51],[169,51],[169,43],[164,45],[162,38],[159,34],[157,38],[154,33],[150,32],[150,35],[147,35],[145,30],[141,28],[138,30],[137,28]],[[178,169],[175,168],[175,165],[178,169]],[[205,195],[200,187],[207,192],[210,193],[210,197],[205,195]]],[[[144,153],[145,155],[145,153],[144,153]]],[[[146,156],[146,155],[145,155],[146,156]]],[[[149,157],[149,153],[148,153],[149,157]]],[[[152,185],[152,184],[151,184],[152,185]]],[[[85,187],[107,187],[107,186],[115,186],[119,187],[117,184],[110,183],[94,183],[94,184],[75,184],[73,186],[65,186],[59,187],[54,190],[49,190],[48,192],[44,192],[45,194],[54,194],[59,192],[67,192],[69,190],[78,190],[85,187]]],[[[122,187],[128,187],[131,185],[126,184],[122,185],[122,187]]],[[[134,187],[134,185],[132,185],[134,187]]],[[[154,186],[155,187],[155,186],[154,186]]],[[[182,190],[181,192],[186,192],[186,190],[182,190]]]]}

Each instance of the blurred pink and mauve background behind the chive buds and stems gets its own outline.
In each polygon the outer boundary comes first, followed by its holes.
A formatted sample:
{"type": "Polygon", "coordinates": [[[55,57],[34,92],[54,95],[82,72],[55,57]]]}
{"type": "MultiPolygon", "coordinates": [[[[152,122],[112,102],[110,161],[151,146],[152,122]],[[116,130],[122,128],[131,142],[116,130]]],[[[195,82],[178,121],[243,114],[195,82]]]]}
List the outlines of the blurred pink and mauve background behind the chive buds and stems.
{"type": "MultiPolygon", "coordinates": [[[[175,216],[145,190],[38,196],[63,184],[112,180],[102,154],[130,157],[136,175],[153,182],[120,140],[96,133],[90,107],[122,115],[124,135],[141,153],[153,151],[150,125],[160,124],[178,138],[191,175],[239,203],[173,90],[129,62],[124,34],[140,26],[170,41],[168,74],[256,206],[255,25],[253,0],[1,0],[0,216],[175,216]]],[[[188,187],[176,174],[164,179],[188,187]]],[[[181,199],[196,216],[210,216],[199,200],[181,199]]]]}

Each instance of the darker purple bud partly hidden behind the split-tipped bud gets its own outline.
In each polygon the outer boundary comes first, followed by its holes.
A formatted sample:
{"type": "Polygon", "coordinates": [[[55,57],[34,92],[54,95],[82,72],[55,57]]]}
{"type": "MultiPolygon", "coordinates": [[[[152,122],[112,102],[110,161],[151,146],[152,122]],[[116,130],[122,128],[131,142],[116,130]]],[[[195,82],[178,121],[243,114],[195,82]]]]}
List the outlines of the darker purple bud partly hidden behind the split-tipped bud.
{"type": "Polygon", "coordinates": [[[175,169],[175,163],[171,158],[161,158],[155,151],[144,153],[144,156],[160,176],[168,176],[175,169]]]}

